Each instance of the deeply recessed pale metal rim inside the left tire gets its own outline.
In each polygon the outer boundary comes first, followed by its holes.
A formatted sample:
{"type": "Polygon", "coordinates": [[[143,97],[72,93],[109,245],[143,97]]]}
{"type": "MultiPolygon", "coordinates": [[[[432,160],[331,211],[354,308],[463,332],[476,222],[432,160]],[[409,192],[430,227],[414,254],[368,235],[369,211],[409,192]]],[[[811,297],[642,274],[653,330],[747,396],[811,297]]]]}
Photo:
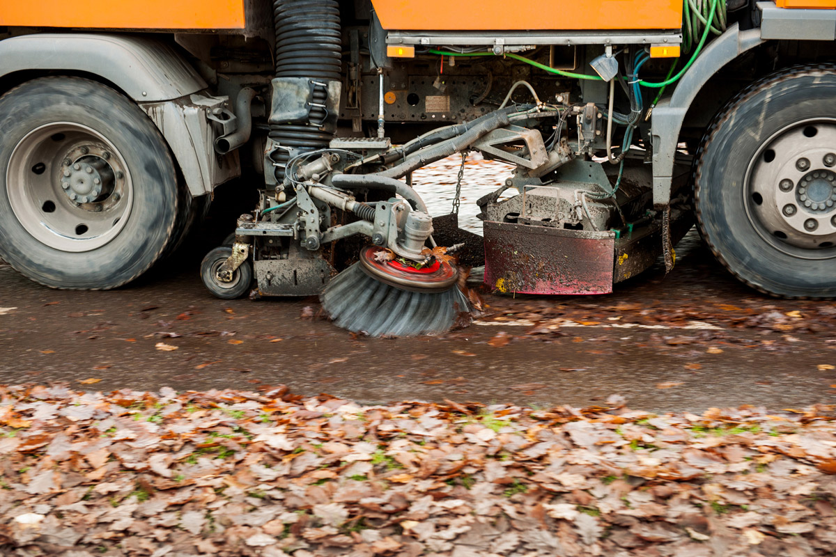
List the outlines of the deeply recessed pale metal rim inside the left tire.
{"type": "Polygon", "coordinates": [[[82,124],[30,131],[12,151],[9,204],[23,228],[60,251],[90,251],[115,239],[133,205],[128,166],[114,144],[82,124]]]}

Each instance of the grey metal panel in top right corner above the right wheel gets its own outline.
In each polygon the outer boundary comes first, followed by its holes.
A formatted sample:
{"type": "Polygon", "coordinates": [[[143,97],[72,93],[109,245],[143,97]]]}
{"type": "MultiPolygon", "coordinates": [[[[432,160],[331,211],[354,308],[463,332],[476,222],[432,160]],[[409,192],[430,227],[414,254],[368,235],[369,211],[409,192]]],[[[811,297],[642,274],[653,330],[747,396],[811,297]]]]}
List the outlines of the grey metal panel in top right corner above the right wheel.
{"type": "Polygon", "coordinates": [[[759,2],[761,37],[804,41],[836,39],[836,10],[778,8],[774,2],[759,2]]]}

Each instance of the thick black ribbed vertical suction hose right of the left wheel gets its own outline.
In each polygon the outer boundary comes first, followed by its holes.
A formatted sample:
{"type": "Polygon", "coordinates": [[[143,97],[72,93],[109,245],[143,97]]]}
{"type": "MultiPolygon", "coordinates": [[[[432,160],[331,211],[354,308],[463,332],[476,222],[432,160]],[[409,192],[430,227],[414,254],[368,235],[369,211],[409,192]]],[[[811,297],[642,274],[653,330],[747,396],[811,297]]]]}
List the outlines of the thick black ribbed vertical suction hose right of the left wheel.
{"type": "MultiPolygon", "coordinates": [[[[337,0],[274,0],[273,20],[277,78],[339,80],[342,35],[337,0]]],[[[326,88],[316,87],[312,103],[324,105],[326,97],[326,88]]],[[[327,147],[334,134],[317,125],[325,115],[324,109],[314,106],[308,124],[271,124],[269,136],[297,151],[327,147]]],[[[288,159],[288,149],[273,154],[279,182],[284,180],[288,159]]]]}

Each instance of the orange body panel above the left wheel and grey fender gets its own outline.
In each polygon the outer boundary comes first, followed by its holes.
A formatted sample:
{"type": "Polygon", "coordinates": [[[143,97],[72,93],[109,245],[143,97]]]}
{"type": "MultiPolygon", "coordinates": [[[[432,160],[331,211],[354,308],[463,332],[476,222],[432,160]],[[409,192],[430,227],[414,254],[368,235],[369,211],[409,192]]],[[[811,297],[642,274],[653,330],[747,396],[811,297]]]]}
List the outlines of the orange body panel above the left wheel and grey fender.
{"type": "Polygon", "coordinates": [[[244,0],[0,0],[0,25],[107,29],[242,29],[244,0]]]}

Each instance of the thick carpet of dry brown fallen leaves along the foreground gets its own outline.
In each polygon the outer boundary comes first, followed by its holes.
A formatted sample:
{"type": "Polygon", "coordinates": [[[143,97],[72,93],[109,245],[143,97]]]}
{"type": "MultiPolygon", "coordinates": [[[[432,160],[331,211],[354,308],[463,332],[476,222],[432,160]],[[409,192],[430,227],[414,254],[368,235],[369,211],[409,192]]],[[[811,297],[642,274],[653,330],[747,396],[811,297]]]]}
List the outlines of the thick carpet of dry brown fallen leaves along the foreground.
{"type": "Polygon", "coordinates": [[[0,554],[813,555],[831,408],[0,387],[0,554]]]}

